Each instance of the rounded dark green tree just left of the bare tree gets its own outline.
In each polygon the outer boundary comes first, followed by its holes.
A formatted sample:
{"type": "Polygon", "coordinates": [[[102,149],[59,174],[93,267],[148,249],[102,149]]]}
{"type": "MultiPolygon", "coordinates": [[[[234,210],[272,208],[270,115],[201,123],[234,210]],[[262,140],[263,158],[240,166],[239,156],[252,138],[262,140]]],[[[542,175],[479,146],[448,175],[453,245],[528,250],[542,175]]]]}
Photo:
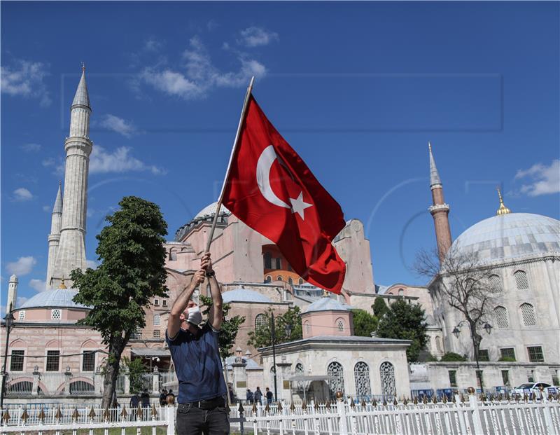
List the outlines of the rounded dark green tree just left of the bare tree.
{"type": "Polygon", "coordinates": [[[377,336],[412,340],[407,348],[408,361],[418,361],[420,351],[428,342],[426,314],[420,305],[411,305],[404,299],[389,305],[377,325],[377,336]]]}

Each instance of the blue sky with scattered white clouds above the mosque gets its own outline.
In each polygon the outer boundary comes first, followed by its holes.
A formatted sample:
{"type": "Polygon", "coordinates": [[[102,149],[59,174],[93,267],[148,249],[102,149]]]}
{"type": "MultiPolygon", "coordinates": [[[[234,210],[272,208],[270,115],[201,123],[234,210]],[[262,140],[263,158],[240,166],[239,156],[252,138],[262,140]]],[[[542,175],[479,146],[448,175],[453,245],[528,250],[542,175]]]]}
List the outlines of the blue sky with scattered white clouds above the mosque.
{"type": "MultiPolygon", "coordinates": [[[[1,287],[41,289],[69,106],[87,67],[87,258],[125,195],[169,240],[216,200],[244,90],[365,223],[377,284],[422,283],[428,140],[457,237],[498,208],[559,218],[556,2],[2,2],[1,287]]],[[[21,299],[20,301],[23,301],[21,299]]],[[[2,303],[5,303],[2,300],[2,303]]]]}

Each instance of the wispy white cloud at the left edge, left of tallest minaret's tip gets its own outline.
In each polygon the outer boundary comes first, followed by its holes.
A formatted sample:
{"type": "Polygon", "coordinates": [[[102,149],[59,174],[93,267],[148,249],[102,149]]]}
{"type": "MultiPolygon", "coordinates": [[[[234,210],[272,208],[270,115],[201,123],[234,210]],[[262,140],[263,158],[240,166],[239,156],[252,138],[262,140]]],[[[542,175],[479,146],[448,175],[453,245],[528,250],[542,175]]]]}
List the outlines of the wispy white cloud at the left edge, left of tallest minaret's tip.
{"type": "Polygon", "coordinates": [[[51,103],[43,78],[48,75],[47,67],[41,62],[15,60],[10,67],[0,67],[1,92],[8,95],[20,95],[37,98],[41,106],[51,103]]]}

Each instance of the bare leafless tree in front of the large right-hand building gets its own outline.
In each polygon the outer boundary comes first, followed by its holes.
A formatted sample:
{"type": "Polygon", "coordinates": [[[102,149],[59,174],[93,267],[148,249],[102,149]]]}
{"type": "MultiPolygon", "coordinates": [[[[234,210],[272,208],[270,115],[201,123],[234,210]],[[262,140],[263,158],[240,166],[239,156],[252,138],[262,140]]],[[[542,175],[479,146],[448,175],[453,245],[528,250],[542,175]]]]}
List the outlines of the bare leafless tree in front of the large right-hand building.
{"type": "MultiPolygon", "coordinates": [[[[494,301],[501,291],[499,277],[493,268],[482,265],[477,251],[465,251],[452,245],[442,262],[437,251],[420,251],[416,256],[414,270],[418,275],[433,279],[435,291],[439,291],[442,299],[447,301],[463,318],[455,329],[463,322],[468,324],[472,341],[473,357],[477,362],[479,373],[479,350],[482,336],[477,331],[486,326],[487,319],[492,315],[494,301]]],[[[482,379],[479,379],[482,386],[482,379]]]]}

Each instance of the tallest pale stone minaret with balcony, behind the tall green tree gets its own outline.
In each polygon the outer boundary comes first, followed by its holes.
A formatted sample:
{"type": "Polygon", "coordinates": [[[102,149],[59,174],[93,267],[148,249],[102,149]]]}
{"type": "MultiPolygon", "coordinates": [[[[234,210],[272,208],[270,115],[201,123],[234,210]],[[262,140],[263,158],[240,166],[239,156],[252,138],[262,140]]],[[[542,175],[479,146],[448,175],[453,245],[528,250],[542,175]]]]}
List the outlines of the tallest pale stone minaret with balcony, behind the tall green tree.
{"type": "Polygon", "coordinates": [[[70,108],[70,136],[64,141],[66,170],[64,172],[64,204],[62,228],[54,272],[49,287],[55,289],[62,278],[74,269],[85,269],[85,214],[87,209],[87,173],[90,153],[90,97],[85,85],[85,67],[70,108]]]}

